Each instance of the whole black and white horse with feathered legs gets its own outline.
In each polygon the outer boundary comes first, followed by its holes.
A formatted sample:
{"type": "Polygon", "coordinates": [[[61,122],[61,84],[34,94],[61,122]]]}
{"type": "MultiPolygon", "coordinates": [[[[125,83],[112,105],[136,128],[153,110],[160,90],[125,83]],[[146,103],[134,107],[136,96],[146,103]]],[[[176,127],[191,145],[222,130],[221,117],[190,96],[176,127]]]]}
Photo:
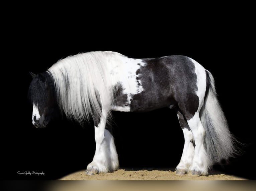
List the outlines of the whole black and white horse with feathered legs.
{"type": "Polygon", "coordinates": [[[177,174],[207,175],[213,163],[234,153],[214,78],[186,56],[131,59],[110,51],[88,52],[32,76],[29,95],[36,127],[45,127],[55,108],[81,124],[93,118],[96,151],[87,174],[111,172],[119,166],[114,138],[105,128],[111,110],[175,108],[185,139],[177,174]]]}

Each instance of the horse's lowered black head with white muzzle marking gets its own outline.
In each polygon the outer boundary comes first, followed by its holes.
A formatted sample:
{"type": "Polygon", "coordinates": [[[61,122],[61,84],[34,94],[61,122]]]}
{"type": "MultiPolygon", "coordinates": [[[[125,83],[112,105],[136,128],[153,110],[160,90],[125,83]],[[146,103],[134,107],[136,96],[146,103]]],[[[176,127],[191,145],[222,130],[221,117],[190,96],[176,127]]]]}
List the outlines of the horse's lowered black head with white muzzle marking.
{"type": "Polygon", "coordinates": [[[43,74],[32,74],[28,96],[33,104],[32,123],[35,127],[45,128],[56,113],[57,102],[54,84],[51,76],[43,74]]]}

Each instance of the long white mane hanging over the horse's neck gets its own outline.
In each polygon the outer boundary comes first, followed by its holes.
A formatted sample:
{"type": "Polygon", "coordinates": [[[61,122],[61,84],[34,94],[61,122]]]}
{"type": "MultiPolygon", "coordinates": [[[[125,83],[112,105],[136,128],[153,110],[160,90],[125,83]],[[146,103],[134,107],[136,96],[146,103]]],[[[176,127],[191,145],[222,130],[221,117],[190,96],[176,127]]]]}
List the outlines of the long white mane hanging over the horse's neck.
{"type": "Polygon", "coordinates": [[[110,110],[114,91],[108,61],[120,56],[124,57],[115,52],[82,53],[62,59],[48,69],[59,107],[67,117],[83,123],[90,117],[100,117],[102,107],[110,110]]]}

